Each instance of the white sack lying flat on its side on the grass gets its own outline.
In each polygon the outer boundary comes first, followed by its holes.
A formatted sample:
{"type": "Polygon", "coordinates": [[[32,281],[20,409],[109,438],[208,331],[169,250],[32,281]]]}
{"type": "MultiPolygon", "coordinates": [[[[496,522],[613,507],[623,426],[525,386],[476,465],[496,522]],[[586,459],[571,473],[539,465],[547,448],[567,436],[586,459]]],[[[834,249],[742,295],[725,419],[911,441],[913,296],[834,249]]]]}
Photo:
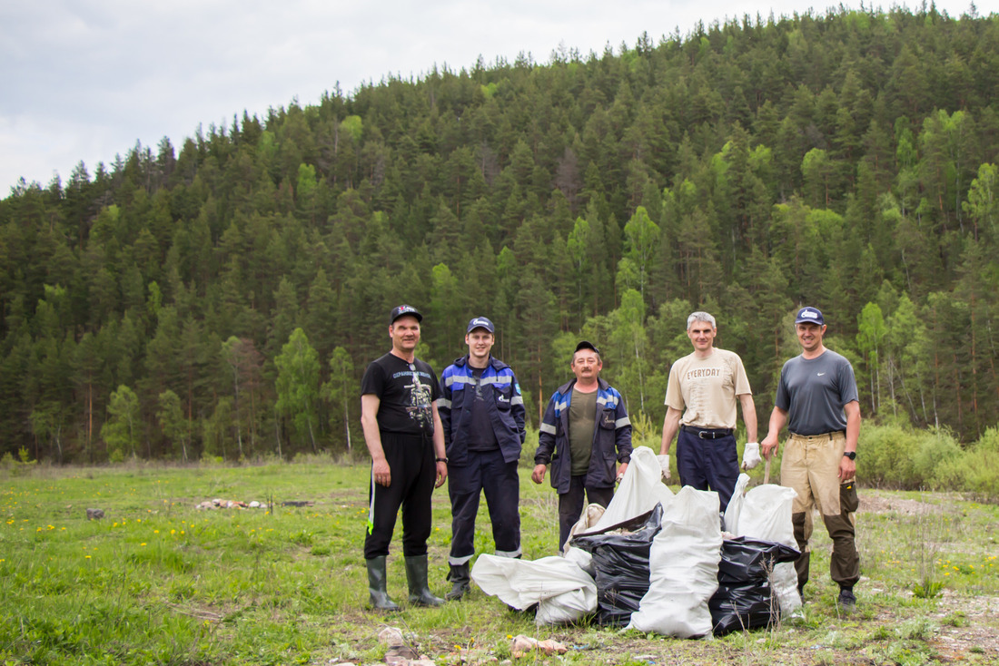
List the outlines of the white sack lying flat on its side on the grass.
{"type": "Polygon", "coordinates": [[[563,557],[530,561],[484,554],[472,567],[472,579],[518,610],[536,603],[538,626],[574,622],[596,610],[596,583],[563,557]]]}

